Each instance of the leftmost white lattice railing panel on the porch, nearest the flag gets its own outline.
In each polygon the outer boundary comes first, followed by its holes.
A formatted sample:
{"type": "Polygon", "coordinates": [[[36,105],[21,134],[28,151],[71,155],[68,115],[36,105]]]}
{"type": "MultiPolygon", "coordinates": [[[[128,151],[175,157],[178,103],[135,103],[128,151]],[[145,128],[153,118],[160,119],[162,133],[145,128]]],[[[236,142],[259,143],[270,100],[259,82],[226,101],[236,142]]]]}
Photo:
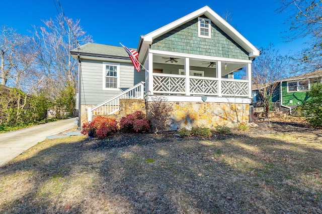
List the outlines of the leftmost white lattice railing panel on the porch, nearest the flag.
{"type": "Polygon", "coordinates": [[[186,78],[182,75],[153,74],[153,93],[185,94],[186,78]]]}

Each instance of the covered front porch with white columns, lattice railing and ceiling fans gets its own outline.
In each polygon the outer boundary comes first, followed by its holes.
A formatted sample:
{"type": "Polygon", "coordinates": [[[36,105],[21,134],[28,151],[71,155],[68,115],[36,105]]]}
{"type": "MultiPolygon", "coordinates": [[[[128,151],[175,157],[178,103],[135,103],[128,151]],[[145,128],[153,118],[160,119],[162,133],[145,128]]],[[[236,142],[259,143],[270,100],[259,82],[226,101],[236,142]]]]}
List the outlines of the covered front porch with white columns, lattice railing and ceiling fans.
{"type": "Polygon", "coordinates": [[[252,98],[251,63],[251,60],[149,49],[144,64],[148,70],[146,94],[248,100],[252,98]],[[244,76],[235,79],[234,72],[240,70],[245,71],[244,76]]]}

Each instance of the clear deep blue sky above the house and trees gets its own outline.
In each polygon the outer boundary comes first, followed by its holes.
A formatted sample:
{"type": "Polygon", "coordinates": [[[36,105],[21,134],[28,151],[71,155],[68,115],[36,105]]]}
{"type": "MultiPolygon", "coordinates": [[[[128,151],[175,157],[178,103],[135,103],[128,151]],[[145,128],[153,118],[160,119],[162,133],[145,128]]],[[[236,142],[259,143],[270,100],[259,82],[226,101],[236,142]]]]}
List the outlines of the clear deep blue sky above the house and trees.
{"type": "MultiPolygon", "coordinates": [[[[0,26],[13,27],[18,33],[28,35],[32,25],[42,25],[41,20],[55,18],[60,12],[57,0],[11,0],[2,2],[0,26]]],[[[138,45],[140,35],[145,35],[167,25],[195,10],[208,5],[218,15],[228,11],[229,22],[241,35],[256,47],[273,43],[282,55],[291,55],[303,47],[303,40],[284,42],[281,33],[286,15],[276,14],[279,7],[271,1],[70,1],[59,0],[65,16],[81,20],[84,30],[96,43],[132,48],[138,45]]]]}

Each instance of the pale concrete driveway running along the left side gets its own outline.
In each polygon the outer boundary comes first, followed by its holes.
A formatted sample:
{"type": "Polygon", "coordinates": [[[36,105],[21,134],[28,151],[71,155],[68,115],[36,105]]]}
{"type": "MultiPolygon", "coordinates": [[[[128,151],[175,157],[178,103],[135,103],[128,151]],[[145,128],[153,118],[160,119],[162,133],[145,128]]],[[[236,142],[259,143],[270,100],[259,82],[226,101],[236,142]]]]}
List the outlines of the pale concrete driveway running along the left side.
{"type": "Polygon", "coordinates": [[[46,139],[75,127],[75,118],[45,123],[17,131],[0,134],[0,167],[19,154],[46,139]]]}

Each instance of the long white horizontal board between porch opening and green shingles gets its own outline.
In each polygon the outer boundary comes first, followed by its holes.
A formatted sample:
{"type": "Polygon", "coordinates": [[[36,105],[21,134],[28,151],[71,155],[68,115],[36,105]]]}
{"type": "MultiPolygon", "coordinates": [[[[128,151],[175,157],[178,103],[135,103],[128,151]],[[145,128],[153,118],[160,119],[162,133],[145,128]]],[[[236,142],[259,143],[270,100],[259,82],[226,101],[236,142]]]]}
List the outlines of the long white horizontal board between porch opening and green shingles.
{"type": "Polygon", "coordinates": [[[153,50],[153,49],[150,49],[149,52],[152,54],[176,56],[176,57],[191,58],[191,59],[203,59],[203,60],[210,60],[210,61],[222,61],[222,62],[232,62],[232,63],[252,63],[252,60],[239,60],[239,59],[224,58],[224,57],[211,57],[211,56],[205,56],[205,55],[184,54],[184,53],[170,52],[170,51],[159,51],[159,50],[153,50]]]}

